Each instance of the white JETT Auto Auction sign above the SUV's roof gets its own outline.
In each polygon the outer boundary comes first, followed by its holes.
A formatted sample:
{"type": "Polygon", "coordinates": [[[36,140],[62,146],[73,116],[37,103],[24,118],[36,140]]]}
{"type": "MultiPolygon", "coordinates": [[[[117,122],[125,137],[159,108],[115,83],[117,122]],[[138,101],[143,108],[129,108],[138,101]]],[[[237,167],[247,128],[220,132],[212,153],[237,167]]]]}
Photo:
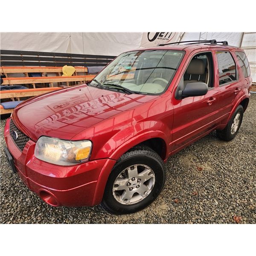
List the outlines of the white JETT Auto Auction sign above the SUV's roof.
{"type": "Polygon", "coordinates": [[[179,41],[180,32],[145,32],[142,35],[141,47],[154,47],[179,41]]]}

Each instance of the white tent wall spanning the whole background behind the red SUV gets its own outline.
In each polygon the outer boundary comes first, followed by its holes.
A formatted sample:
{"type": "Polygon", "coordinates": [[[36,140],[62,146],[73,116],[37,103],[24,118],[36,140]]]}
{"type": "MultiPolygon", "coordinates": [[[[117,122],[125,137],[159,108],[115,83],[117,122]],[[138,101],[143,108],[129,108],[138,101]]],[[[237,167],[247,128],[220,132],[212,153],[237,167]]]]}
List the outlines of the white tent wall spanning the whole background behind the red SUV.
{"type": "Polygon", "coordinates": [[[117,56],[138,47],[169,42],[171,38],[171,41],[216,39],[241,47],[256,82],[255,32],[7,32],[1,33],[0,49],[117,56]],[[148,41],[148,33],[150,39],[158,33],[156,40],[148,41]]]}

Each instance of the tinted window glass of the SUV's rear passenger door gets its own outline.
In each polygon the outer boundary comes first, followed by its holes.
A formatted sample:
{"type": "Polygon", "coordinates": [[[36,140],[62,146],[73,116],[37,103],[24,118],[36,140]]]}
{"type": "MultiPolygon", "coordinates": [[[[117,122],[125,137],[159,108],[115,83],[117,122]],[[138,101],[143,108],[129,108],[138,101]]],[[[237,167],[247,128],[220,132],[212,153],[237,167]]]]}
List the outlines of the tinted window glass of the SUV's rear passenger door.
{"type": "Polygon", "coordinates": [[[236,64],[230,52],[217,52],[219,84],[236,81],[236,64]]]}

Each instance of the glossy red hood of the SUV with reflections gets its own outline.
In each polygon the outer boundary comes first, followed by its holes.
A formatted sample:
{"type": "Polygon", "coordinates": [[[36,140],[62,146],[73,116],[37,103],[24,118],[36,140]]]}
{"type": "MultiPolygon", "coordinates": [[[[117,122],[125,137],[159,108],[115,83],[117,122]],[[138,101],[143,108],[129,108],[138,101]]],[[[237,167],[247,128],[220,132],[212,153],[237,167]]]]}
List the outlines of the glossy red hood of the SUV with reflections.
{"type": "Polygon", "coordinates": [[[86,128],[155,97],[82,84],[29,99],[15,108],[12,118],[34,141],[43,135],[71,140],[86,128]]]}

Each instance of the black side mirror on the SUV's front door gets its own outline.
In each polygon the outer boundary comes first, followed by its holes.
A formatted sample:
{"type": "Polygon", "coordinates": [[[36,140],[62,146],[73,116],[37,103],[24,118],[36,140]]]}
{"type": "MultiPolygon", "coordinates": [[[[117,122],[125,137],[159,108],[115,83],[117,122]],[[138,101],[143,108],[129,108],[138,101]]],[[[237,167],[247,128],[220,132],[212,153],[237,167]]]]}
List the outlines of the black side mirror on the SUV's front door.
{"type": "Polygon", "coordinates": [[[177,93],[179,99],[187,98],[187,97],[194,97],[194,96],[203,96],[207,94],[208,86],[206,83],[202,82],[195,82],[195,83],[188,83],[184,90],[180,90],[177,93]]]}

